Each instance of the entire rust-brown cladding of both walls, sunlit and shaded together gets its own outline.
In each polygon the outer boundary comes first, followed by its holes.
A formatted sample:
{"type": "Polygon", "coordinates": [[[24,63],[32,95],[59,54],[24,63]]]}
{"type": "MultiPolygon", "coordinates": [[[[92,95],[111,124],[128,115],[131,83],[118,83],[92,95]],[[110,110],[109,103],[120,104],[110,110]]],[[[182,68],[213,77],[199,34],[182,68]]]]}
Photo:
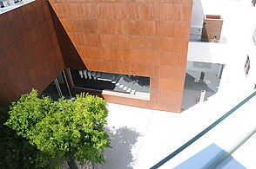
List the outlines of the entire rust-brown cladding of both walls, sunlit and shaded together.
{"type": "Polygon", "coordinates": [[[30,88],[42,92],[65,64],[150,76],[150,101],[104,98],[180,111],[192,0],[49,2],[37,0],[0,16],[0,104],[30,88]]]}

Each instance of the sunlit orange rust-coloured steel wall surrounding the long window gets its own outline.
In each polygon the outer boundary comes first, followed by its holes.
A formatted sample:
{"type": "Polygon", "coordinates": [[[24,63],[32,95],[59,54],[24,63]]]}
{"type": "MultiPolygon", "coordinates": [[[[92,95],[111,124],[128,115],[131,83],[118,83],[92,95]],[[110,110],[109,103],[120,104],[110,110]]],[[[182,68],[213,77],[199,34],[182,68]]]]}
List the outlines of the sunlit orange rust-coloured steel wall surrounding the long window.
{"type": "Polygon", "coordinates": [[[180,112],[192,0],[49,2],[86,68],[151,78],[150,101],[107,101],[180,112]]]}

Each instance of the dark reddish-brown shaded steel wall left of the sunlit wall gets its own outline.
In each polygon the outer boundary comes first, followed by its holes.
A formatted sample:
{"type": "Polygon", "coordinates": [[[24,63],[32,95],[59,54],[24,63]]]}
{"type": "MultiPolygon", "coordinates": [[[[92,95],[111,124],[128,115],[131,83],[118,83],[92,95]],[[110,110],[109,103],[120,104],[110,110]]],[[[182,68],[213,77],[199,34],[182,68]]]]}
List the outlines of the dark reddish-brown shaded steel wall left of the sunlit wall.
{"type": "Polygon", "coordinates": [[[41,93],[64,69],[46,0],[0,15],[0,105],[37,88],[41,93]]]}

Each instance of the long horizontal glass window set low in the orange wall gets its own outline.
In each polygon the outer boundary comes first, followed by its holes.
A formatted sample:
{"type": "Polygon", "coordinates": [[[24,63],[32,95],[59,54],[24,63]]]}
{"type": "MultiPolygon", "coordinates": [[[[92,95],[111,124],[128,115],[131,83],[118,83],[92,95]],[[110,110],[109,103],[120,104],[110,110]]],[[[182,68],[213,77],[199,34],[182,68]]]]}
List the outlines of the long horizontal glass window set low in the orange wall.
{"type": "Polygon", "coordinates": [[[120,75],[98,71],[70,69],[74,87],[109,90],[124,94],[150,96],[150,78],[136,75],[120,75]]]}

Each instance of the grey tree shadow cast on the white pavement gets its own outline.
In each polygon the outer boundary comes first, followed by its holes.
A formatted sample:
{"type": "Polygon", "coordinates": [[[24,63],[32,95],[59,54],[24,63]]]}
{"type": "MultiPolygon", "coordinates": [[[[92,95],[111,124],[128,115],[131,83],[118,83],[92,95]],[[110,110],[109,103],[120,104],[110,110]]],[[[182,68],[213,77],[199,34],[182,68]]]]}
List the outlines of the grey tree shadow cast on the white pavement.
{"type": "Polygon", "coordinates": [[[135,158],[132,155],[132,148],[137,143],[140,133],[128,127],[107,128],[111,146],[105,150],[106,163],[95,166],[96,169],[131,169],[135,158]]]}

